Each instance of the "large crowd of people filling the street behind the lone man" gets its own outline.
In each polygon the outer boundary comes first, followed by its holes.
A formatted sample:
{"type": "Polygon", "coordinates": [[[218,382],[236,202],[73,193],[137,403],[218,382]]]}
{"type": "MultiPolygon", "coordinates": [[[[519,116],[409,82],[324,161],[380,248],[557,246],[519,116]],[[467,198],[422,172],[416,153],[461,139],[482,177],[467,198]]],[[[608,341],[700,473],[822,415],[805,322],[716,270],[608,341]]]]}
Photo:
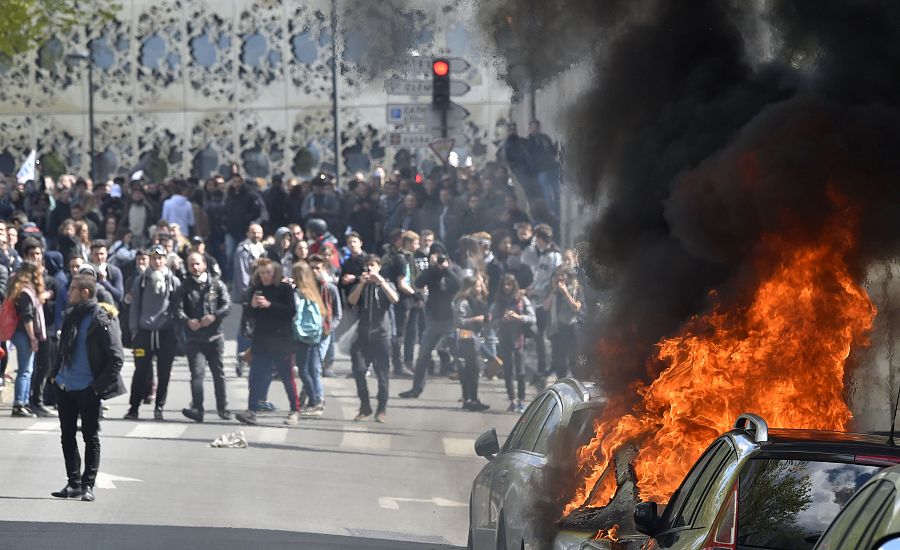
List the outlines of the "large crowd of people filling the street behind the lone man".
{"type": "Polygon", "coordinates": [[[285,423],[295,425],[323,414],[322,377],[335,375],[336,348],[350,356],[356,420],[387,420],[392,379],[410,379],[398,395],[415,399],[435,375],[458,379],[471,411],[488,408],[479,381],[502,377],[509,411],[523,411],[528,373],[540,384],[575,367],[586,303],[577,253],[554,242],[559,220],[545,199],[558,190],[544,188],[558,186],[558,175],[535,172],[528,185],[545,192],[520,205],[510,167],[521,169],[522,159],[512,162],[508,149],[507,162],[480,170],[377,169],[341,185],[327,174],[246,178],[236,165],[203,182],[0,183],[0,335],[16,323],[12,414],[56,414],[59,387],[48,378],[68,372],[50,376],[78,306],[69,290],[85,280],[94,283],[85,300],[103,306],[104,323],[117,325],[134,358],[126,419],[140,418],[142,405],[164,419],[172,364],[183,355],[187,418],[204,420],[208,370],[222,419],[255,424],[274,410],[268,392],[277,379],[290,404],[285,423]],[[237,334],[226,335],[223,320],[235,309],[237,334]],[[249,382],[234,415],[226,337],[237,338],[235,375],[249,382]]]}

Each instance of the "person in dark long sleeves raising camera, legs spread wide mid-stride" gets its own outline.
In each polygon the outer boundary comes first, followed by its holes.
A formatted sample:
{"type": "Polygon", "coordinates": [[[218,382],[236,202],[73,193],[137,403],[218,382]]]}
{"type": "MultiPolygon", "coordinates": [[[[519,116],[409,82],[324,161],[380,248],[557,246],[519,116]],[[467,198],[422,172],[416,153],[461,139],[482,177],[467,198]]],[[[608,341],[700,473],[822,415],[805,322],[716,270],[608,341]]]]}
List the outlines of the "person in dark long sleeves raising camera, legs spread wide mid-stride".
{"type": "Polygon", "coordinates": [[[453,315],[453,297],[459,292],[458,268],[450,264],[447,250],[440,243],[431,247],[428,269],[416,278],[415,285],[428,293],[425,303],[425,331],[416,357],[413,386],[402,392],[400,397],[415,399],[425,388],[425,371],[431,362],[431,352],[445,337],[456,329],[453,315]]]}

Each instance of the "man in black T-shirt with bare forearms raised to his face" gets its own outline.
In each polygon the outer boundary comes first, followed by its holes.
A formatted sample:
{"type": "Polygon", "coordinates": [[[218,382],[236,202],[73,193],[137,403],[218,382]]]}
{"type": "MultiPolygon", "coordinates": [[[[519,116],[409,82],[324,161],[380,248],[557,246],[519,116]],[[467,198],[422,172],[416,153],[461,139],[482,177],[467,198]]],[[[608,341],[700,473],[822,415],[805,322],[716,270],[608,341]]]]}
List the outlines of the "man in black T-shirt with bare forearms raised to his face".
{"type": "Polygon", "coordinates": [[[363,260],[363,272],[359,281],[350,291],[347,302],[356,307],[359,323],[356,340],[350,347],[350,364],[356,379],[356,393],[359,396],[360,421],[372,415],[369,402],[369,388],[366,371],[369,365],[378,379],[378,408],[375,422],[387,420],[388,384],[391,370],[391,337],[394,333],[393,304],[400,297],[397,289],[380,274],[381,258],[370,254],[363,260]]]}

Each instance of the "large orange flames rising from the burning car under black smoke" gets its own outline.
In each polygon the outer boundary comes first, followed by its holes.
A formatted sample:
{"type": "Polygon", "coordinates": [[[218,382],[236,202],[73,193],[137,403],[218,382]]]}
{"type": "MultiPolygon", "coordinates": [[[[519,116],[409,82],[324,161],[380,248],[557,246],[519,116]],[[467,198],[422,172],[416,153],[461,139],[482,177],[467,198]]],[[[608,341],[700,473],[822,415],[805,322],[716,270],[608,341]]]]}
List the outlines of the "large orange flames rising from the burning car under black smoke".
{"type": "Polygon", "coordinates": [[[852,219],[835,221],[816,244],[765,239],[755,265],[760,283],[745,305],[724,310],[713,295],[710,311],[657,344],[664,370],[637,387],[641,401],[630,413],[624,400],[604,411],[578,451],[579,487],[564,515],[609,503],[614,456],[627,443],[641,443],[634,459],[640,498],[664,502],[743,412],[773,427],[846,429],[845,363],[854,345],[867,343],[876,314],[847,264],[852,219]]]}

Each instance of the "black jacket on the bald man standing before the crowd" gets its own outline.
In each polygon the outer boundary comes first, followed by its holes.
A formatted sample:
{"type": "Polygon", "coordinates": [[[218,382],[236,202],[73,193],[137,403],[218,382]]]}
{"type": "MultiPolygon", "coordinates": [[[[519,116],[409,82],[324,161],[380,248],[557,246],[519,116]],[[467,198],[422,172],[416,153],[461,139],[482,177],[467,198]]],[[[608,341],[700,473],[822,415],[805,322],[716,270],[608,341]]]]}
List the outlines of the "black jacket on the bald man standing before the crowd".
{"type": "Polygon", "coordinates": [[[212,274],[207,277],[205,283],[198,283],[191,276],[185,277],[175,300],[176,316],[183,323],[190,319],[200,319],[204,315],[216,316],[211,325],[198,330],[185,327],[186,339],[190,341],[209,342],[213,337],[221,336],[222,320],[231,311],[231,299],[225,283],[212,274]]]}

